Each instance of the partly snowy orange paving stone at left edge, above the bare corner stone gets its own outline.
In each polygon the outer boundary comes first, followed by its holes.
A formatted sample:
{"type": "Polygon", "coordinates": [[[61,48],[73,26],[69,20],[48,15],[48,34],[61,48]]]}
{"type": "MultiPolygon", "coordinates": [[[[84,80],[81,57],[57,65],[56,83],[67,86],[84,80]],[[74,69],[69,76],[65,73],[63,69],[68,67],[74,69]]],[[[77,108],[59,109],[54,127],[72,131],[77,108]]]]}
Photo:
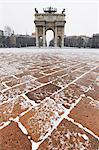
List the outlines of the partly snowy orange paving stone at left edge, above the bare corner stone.
{"type": "Polygon", "coordinates": [[[0,125],[8,121],[10,118],[16,118],[22,112],[29,109],[31,104],[22,96],[0,105],[0,125]]]}

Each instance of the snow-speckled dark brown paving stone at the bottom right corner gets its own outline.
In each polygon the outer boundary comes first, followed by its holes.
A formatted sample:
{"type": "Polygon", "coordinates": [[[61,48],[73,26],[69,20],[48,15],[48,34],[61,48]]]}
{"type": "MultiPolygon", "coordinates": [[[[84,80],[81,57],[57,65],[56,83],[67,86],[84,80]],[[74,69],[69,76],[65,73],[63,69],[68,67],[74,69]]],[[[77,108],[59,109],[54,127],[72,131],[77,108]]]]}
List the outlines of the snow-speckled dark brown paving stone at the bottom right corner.
{"type": "Polygon", "coordinates": [[[38,150],[97,150],[99,141],[66,119],[58,125],[38,150]]]}

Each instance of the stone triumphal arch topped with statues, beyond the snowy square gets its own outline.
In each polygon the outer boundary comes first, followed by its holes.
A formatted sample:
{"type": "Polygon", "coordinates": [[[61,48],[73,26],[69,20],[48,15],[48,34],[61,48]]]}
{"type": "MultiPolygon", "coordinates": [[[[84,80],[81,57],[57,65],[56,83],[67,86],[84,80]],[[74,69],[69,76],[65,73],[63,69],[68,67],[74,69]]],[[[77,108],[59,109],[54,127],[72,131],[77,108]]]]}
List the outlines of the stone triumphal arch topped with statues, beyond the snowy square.
{"type": "Polygon", "coordinates": [[[36,46],[46,47],[46,32],[52,30],[54,33],[54,47],[64,46],[64,27],[65,27],[65,9],[61,13],[57,13],[56,8],[48,7],[43,9],[43,13],[39,13],[35,8],[35,29],[36,29],[36,46]]]}

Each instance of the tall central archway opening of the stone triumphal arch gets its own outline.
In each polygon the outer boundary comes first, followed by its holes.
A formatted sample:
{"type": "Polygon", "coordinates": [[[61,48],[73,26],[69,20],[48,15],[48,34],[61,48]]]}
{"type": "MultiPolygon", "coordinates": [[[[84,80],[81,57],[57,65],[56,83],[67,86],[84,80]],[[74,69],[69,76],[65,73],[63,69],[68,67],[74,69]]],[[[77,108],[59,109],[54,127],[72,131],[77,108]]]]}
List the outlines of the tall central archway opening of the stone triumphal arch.
{"type": "Polygon", "coordinates": [[[54,37],[55,37],[55,33],[52,29],[48,29],[46,31],[46,46],[54,46],[54,37]],[[53,41],[53,43],[51,43],[51,41],[53,41]]]}

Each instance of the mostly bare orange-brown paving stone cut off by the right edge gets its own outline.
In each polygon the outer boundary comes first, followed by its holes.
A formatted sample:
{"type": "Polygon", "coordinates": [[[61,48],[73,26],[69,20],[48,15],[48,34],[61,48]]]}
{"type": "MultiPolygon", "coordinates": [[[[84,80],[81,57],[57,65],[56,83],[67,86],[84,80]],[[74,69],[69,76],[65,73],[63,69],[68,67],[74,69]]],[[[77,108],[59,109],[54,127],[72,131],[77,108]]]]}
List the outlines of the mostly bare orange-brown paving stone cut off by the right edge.
{"type": "Polygon", "coordinates": [[[69,117],[99,136],[99,102],[89,98],[82,98],[72,109],[69,117]]]}

